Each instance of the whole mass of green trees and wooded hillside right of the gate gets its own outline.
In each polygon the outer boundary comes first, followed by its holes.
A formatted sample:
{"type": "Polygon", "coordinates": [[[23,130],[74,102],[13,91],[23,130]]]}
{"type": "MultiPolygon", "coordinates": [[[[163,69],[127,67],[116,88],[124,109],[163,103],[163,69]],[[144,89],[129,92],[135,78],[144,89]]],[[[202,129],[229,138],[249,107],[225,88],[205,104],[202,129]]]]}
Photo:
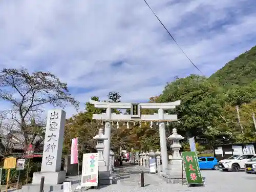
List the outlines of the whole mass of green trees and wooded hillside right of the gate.
{"type": "Polygon", "coordinates": [[[190,75],[167,83],[158,102],[181,99],[178,127],[205,143],[256,141],[256,47],[209,78],[190,75]]]}

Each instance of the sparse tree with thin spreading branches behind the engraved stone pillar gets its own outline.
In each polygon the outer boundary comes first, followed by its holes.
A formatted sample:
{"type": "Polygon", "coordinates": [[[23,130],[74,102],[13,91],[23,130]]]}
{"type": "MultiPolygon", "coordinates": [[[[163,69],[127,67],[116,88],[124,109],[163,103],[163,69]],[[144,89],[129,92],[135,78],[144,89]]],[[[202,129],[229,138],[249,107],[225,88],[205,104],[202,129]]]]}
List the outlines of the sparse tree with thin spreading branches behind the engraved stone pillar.
{"type": "Polygon", "coordinates": [[[64,108],[67,103],[78,109],[79,102],[69,93],[67,83],[61,82],[50,72],[29,73],[27,69],[3,69],[0,72],[0,99],[12,105],[17,113],[17,128],[23,133],[25,144],[31,143],[37,133],[30,137],[34,114],[43,112],[45,104],[64,108]]]}

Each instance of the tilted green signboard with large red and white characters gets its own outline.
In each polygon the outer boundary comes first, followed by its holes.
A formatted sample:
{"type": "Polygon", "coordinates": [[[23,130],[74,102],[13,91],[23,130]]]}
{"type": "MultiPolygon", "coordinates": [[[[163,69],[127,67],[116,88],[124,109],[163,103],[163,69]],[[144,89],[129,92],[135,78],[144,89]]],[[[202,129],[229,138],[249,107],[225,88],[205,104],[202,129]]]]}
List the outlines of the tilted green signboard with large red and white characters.
{"type": "Polygon", "coordinates": [[[186,173],[187,184],[203,184],[196,152],[182,152],[181,156],[186,173]]]}

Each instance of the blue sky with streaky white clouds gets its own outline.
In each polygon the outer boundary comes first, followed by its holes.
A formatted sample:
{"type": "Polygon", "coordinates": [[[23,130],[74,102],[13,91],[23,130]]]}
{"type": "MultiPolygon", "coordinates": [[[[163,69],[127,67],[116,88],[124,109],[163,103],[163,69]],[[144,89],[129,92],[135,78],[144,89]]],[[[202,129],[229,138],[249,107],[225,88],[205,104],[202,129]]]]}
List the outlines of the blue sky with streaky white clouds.
{"type": "MultiPolygon", "coordinates": [[[[256,44],[254,0],[147,3],[206,76],[256,44]]],[[[143,0],[2,0],[0,69],[21,67],[67,82],[80,110],[109,92],[147,102],[175,76],[200,74],[143,0]]],[[[0,110],[8,107],[0,102],[0,110]]]]}

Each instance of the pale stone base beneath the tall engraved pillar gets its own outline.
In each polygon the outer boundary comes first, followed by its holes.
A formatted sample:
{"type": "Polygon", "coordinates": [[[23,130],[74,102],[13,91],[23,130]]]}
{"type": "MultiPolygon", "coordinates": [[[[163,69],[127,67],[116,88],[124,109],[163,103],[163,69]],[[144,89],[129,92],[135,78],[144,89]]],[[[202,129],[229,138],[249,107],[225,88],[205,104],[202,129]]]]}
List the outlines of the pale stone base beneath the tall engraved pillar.
{"type": "Polygon", "coordinates": [[[45,185],[57,185],[66,180],[66,172],[35,172],[33,174],[32,185],[40,185],[41,177],[45,177],[45,185]]]}

